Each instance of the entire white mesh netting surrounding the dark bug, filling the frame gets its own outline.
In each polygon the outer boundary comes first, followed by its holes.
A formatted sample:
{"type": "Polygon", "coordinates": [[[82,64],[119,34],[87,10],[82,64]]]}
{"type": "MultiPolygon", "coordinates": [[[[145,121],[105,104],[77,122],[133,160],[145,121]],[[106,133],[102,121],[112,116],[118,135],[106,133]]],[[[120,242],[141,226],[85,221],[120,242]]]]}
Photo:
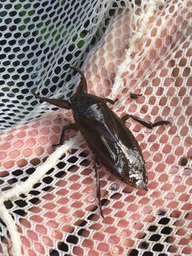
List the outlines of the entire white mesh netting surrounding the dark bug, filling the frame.
{"type": "Polygon", "coordinates": [[[191,255],[192,1],[4,0],[0,8],[0,255],[191,255]],[[118,97],[110,107],[119,117],[172,124],[127,122],[149,190],[102,167],[105,219],[80,133],[52,146],[71,112],[31,94],[68,99],[79,81],[68,66],[82,63],[88,92],[118,97]]]}

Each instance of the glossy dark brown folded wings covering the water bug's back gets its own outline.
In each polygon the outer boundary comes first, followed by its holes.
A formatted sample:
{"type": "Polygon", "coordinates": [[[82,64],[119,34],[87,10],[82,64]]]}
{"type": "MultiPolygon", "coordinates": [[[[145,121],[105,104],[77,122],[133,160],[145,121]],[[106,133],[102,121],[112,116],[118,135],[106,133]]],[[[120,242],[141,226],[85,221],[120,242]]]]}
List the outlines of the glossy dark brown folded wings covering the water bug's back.
{"type": "Polygon", "coordinates": [[[131,186],[146,189],[145,162],[139,144],[106,104],[91,105],[78,122],[88,146],[109,171],[131,186]]]}

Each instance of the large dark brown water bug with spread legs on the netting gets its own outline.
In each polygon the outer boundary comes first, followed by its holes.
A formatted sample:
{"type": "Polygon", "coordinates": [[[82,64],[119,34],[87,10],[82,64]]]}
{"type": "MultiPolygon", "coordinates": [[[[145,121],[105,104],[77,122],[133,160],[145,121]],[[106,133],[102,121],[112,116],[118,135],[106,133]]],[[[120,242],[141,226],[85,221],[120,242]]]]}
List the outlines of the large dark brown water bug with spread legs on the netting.
{"type": "Polygon", "coordinates": [[[75,122],[63,127],[59,144],[53,146],[63,144],[67,129],[80,130],[82,137],[84,137],[93,154],[95,154],[97,198],[100,213],[103,217],[98,173],[100,162],[119,180],[135,188],[147,191],[146,164],[137,140],[125,125],[127,119],[132,118],[149,129],[161,124],[171,123],[169,121],[160,121],[153,124],[132,114],[126,114],[120,119],[107,106],[107,103],[114,105],[116,100],[113,101],[88,94],[87,81],[82,71],[78,68],[70,68],[80,73],[81,79],[77,91],[69,100],[48,99],[40,97],[34,92],[33,95],[43,102],[73,111],[75,122]]]}

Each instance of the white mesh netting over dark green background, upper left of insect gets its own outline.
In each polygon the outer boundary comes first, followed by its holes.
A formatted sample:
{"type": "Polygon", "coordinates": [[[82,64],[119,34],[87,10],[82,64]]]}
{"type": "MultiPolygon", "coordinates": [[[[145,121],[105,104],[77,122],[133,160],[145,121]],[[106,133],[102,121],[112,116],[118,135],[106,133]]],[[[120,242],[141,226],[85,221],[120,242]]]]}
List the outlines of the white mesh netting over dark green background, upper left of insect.
{"type": "Polygon", "coordinates": [[[1,129],[38,112],[33,112],[31,88],[38,87],[44,96],[73,92],[65,65],[82,62],[110,6],[112,1],[1,3],[1,129]]]}

